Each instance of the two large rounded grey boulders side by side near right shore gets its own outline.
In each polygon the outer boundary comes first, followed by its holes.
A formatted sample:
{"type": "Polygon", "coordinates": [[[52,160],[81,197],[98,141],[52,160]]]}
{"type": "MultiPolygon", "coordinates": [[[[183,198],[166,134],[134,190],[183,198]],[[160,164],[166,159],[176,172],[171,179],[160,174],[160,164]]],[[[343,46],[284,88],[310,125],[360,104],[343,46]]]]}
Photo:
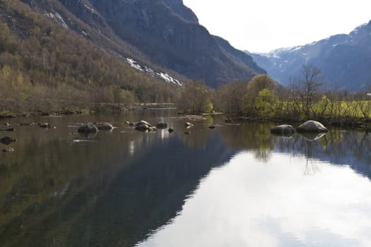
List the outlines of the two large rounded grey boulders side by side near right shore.
{"type": "MultiPolygon", "coordinates": [[[[322,123],[313,120],[306,121],[296,128],[296,132],[298,133],[326,133],[327,131],[327,128],[322,123]]],[[[290,136],[295,133],[295,128],[288,124],[283,124],[271,128],[271,133],[275,135],[290,136]]]]}

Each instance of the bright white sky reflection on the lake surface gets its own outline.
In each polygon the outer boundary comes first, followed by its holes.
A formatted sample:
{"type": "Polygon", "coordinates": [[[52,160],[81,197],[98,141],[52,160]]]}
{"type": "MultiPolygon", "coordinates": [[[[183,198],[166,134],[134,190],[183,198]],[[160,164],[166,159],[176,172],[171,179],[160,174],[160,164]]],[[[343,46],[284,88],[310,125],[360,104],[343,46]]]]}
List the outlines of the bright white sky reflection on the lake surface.
{"type": "Polygon", "coordinates": [[[241,152],[201,181],[182,213],[137,246],[370,246],[371,182],[350,167],[241,152]]]}

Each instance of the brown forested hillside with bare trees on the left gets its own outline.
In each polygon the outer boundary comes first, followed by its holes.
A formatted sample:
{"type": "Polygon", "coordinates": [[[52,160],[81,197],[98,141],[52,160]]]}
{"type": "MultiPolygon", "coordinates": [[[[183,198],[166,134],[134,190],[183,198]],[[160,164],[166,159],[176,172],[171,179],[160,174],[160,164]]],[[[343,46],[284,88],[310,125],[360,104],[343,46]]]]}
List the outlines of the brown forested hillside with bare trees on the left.
{"type": "Polygon", "coordinates": [[[0,112],[52,112],[90,103],[170,102],[176,85],[118,56],[18,0],[0,1],[0,112]]]}

